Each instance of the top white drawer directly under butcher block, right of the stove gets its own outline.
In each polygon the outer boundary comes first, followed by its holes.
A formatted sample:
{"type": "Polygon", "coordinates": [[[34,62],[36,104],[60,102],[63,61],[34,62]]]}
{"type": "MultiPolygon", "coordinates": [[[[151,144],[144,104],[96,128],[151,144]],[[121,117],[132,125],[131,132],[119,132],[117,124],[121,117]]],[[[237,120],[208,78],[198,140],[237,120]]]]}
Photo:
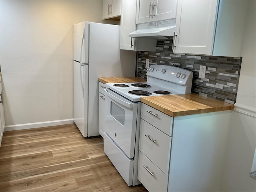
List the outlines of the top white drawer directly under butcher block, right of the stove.
{"type": "Polygon", "coordinates": [[[167,135],[172,135],[173,118],[144,103],[141,105],[141,118],[167,135]]]}

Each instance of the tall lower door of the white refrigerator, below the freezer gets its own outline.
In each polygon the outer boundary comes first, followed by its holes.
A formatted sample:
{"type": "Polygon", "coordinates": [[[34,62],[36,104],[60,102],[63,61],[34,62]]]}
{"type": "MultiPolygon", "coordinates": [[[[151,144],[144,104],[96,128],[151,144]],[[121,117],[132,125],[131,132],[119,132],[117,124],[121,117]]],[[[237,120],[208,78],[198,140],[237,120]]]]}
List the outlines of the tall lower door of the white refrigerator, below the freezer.
{"type": "Polygon", "coordinates": [[[74,61],[74,122],[82,135],[87,137],[88,130],[88,75],[89,66],[74,61]]]}

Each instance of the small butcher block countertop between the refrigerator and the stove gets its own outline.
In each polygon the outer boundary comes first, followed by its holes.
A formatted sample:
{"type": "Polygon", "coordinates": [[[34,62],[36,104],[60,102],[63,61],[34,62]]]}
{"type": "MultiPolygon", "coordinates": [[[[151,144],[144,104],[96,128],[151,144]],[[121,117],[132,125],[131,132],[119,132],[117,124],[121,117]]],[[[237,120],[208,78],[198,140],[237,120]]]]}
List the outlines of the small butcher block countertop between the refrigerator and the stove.
{"type": "Polygon", "coordinates": [[[147,80],[141,77],[99,77],[98,81],[106,84],[106,83],[146,82],[147,80]]]}

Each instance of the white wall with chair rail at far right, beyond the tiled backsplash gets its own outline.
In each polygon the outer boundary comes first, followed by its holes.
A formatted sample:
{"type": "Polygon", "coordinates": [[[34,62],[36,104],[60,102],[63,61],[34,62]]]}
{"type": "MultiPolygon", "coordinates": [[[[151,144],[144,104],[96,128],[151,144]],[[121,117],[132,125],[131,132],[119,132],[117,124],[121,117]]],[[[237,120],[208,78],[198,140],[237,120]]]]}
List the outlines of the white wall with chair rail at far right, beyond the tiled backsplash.
{"type": "Polygon", "coordinates": [[[256,147],[255,10],[255,0],[250,0],[242,46],[238,94],[235,111],[232,112],[231,117],[220,191],[256,191],[256,181],[250,177],[256,147]]]}

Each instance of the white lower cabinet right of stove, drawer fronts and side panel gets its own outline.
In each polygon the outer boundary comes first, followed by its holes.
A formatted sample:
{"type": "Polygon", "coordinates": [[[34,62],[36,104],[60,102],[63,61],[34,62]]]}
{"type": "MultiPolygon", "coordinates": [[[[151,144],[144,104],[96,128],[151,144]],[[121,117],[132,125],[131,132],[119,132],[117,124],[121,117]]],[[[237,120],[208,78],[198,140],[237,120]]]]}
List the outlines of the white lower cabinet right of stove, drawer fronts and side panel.
{"type": "Polygon", "coordinates": [[[171,117],[142,103],[138,180],[148,191],[219,191],[231,112],[171,117]]]}

